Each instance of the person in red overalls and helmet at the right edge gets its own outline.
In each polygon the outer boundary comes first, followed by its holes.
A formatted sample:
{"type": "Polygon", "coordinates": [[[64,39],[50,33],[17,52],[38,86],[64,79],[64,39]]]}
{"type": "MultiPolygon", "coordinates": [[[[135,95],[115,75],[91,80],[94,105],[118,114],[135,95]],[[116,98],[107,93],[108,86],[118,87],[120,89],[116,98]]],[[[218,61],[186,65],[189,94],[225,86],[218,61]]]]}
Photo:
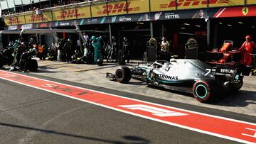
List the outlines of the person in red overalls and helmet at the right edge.
{"type": "Polygon", "coordinates": [[[245,37],[245,42],[242,44],[241,48],[239,49],[242,53],[242,63],[245,65],[252,65],[252,50],[256,48],[256,45],[253,41],[251,41],[250,35],[245,37]]]}

